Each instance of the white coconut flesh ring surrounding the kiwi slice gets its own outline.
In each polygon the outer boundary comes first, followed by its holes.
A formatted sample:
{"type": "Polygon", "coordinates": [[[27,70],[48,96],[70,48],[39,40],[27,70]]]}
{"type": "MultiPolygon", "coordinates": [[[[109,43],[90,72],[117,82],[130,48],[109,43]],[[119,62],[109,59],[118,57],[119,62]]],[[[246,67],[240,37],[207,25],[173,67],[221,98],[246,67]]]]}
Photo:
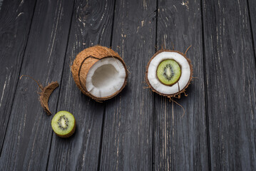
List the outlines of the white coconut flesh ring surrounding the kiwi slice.
{"type": "Polygon", "coordinates": [[[190,81],[190,72],[190,64],[184,56],[177,52],[163,51],[158,53],[158,55],[150,61],[148,66],[148,81],[159,93],[172,95],[183,90],[183,88],[188,85],[188,82],[190,81]],[[173,59],[180,65],[181,69],[180,79],[172,86],[166,86],[161,83],[156,75],[159,64],[166,59],[173,59]]]}

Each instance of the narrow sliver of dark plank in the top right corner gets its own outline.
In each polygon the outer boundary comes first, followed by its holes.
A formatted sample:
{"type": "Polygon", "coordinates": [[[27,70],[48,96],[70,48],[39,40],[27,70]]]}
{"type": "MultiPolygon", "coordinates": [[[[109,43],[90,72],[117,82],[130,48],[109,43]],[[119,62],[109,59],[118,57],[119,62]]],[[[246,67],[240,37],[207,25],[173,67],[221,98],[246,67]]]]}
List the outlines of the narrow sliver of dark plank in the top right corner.
{"type": "MultiPolygon", "coordinates": [[[[248,0],[248,11],[249,11],[249,19],[250,19],[250,26],[252,30],[252,38],[253,38],[253,45],[256,51],[256,1],[248,0]]],[[[256,56],[255,56],[256,58],[256,56]]]]}

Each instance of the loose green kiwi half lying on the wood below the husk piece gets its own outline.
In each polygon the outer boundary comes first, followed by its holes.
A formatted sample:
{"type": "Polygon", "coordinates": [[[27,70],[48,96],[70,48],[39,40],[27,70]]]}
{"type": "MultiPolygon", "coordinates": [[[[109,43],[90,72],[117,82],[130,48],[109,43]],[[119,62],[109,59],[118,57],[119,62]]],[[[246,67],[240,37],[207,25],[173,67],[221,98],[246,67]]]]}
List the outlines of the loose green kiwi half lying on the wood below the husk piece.
{"type": "Polygon", "coordinates": [[[59,137],[68,138],[76,130],[76,120],[71,113],[64,110],[59,111],[51,120],[51,128],[59,137]]]}

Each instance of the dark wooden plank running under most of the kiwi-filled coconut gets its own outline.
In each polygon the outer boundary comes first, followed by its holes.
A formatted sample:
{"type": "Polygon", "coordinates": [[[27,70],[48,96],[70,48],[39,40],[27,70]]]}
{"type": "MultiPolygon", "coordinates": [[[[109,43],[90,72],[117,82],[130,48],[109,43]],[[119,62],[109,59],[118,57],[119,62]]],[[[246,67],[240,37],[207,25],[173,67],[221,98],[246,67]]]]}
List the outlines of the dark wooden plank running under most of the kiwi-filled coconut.
{"type": "Polygon", "coordinates": [[[207,124],[203,75],[200,1],[158,2],[158,49],[185,53],[193,64],[193,80],[179,105],[155,94],[155,170],[208,170],[207,124]]]}

